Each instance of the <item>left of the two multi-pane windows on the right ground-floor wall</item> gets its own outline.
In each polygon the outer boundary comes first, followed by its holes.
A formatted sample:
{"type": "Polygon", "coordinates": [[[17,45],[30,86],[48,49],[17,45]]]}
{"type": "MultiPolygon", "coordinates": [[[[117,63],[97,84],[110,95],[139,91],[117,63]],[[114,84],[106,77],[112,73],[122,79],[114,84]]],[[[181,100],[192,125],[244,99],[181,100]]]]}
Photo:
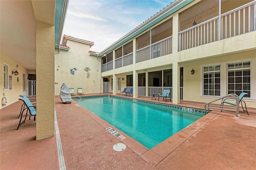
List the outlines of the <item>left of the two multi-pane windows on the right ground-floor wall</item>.
{"type": "Polygon", "coordinates": [[[220,96],[220,65],[203,67],[203,95],[220,96]]]}

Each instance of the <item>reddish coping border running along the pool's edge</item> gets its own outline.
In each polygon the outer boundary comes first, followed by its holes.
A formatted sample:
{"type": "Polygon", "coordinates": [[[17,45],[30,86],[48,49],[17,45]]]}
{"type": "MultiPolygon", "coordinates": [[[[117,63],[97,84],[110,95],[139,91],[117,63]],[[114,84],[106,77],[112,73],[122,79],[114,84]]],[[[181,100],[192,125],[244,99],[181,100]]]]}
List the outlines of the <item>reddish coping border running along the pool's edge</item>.
{"type": "MultiPolygon", "coordinates": [[[[96,96],[111,96],[111,95],[96,95],[96,96]]],[[[113,95],[114,96],[114,95],[113,95]]],[[[86,96],[88,97],[88,96],[86,96]]],[[[118,96],[115,96],[118,97],[118,96]]],[[[138,99],[141,100],[141,99],[138,99]]],[[[82,106],[78,104],[76,101],[75,105],[82,106]]],[[[155,167],[159,164],[166,156],[171,154],[177,147],[179,147],[182,143],[188,140],[194,133],[199,131],[204,125],[206,125],[209,121],[214,119],[220,112],[218,111],[211,111],[210,113],[204,115],[200,119],[194,121],[192,124],[188,125],[184,129],[178,131],[168,139],[164,140],[160,144],[156,145],[152,149],[147,149],[138,141],[121,131],[120,129],[114,127],[104,119],[98,117],[98,115],[92,113],[90,110],[86,109],[85,107],[80,107],[87,115],[89,115],[94,121],[99,123],[104,129],[108,127],[112,127],[116,131],[118,131],[121,135],[125,137],[120,142],[124,143],[128,148],[130,148],[133,152],[135,152],[138,156],[140,156],[144,161],[146,161],[151,166],[155,167]]],[[[107,131],[107,130],[106,130],[107,131]]],[[[109,134],[111,135],[111,134],[109,134]]]]}

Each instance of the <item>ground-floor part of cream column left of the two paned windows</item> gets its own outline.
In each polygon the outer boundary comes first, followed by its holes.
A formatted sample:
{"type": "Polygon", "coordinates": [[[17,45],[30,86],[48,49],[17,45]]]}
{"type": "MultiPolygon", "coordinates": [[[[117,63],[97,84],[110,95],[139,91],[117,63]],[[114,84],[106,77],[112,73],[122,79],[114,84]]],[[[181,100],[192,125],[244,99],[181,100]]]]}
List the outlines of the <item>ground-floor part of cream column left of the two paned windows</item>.
{"type": "Polygon", "coordinates": [[[172,103],[180,103],[180,64],[172,64],[172,103]]]}

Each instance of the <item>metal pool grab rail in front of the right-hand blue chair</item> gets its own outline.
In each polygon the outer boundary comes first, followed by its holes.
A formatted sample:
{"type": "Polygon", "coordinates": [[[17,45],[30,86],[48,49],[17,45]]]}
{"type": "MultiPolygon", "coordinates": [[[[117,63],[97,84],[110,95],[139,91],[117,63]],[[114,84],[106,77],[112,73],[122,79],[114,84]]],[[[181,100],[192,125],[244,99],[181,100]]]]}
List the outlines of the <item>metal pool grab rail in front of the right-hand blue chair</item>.
{"type": "Polygon", "coordinates": [[[218,99],[215,99],[215,100],[212,100],[212,101],[206,103],[204,105],[204,113],[206,114],[206,108],[208,108],[208,113],[209,113],[210,108],[211,109],[221,109],[221,110],[234,111],[234,107],[210,105],[212,102],[216,102],[217,100],[220,100],[220,99],[222,100],[222,99],[227,98],[227,97],[231,97],[229,99],[236,99],[236,116],[234,116],[234,118],[239,118],[238,117],[238,115],[239,115],[239,96],[236,95],[236,94],[228,94],[226,96],[222,96],[221,98],[218,98],[218,99]],[[223,109],[223,108],[229,108],[229,109],[223,109]]]}

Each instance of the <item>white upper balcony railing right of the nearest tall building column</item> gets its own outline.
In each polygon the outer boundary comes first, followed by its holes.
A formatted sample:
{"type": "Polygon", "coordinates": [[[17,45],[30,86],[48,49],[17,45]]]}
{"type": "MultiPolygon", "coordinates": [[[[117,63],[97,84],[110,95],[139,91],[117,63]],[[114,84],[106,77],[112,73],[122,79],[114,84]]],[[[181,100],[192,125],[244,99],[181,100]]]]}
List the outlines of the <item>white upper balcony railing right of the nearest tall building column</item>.
{"type": "Polygon", "coordinates": [[[256,2],[253,1],[222,14],[220,21],[217,16],[179,32],[179,51],[255,30],[256,2]]]}

